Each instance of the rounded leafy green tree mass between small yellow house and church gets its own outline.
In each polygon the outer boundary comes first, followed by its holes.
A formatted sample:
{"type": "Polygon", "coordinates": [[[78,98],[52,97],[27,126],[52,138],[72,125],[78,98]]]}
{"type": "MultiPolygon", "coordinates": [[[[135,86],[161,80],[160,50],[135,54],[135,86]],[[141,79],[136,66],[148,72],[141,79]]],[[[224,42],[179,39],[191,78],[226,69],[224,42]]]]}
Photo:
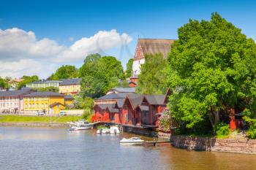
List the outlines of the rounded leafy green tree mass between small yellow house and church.
{"type": "Polygon", "coordinates": [[[124,79],[121,62],[112,56],[88,55],[80,68],[83,96],[97,98],[124,79]]]}

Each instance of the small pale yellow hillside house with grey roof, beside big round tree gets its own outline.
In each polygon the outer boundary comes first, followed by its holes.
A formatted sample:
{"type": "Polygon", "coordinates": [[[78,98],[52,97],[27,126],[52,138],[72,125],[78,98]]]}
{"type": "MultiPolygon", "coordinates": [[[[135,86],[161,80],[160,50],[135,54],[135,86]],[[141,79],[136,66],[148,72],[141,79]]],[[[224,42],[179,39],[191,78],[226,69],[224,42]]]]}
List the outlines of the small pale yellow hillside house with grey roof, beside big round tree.
{"type": "Polygon", "coordinates": [[[80,79],[67,79],[59,84],[59,93],[76,94],[80,92],[80,79]]]}

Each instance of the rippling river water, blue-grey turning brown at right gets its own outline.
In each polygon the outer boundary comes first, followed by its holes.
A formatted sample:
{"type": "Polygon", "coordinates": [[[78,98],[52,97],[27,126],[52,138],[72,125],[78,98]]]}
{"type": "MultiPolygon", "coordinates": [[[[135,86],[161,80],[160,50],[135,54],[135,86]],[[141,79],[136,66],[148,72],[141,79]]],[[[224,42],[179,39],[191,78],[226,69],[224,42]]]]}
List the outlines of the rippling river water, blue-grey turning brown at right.
{"type": "Polygon", "coordinates": [[[135,135],[1,126],[0,169],[256,169],[256,155],[189,152],[170,144],[124,146],[123,136],[135,135]]]}

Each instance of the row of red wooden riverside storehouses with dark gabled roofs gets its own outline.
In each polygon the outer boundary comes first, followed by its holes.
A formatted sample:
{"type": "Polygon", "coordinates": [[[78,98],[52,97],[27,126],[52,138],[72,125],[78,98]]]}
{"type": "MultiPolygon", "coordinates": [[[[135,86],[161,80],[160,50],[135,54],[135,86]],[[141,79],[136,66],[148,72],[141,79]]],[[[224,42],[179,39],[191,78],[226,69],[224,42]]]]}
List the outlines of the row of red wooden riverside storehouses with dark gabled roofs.
{"type": "Polygon", "coordinates": [[[135,93],[112,93],[94,102],[92,120],[123,125],[157,127],[158,119],[166,108],[165,95],[140,95],[135,93]]]}

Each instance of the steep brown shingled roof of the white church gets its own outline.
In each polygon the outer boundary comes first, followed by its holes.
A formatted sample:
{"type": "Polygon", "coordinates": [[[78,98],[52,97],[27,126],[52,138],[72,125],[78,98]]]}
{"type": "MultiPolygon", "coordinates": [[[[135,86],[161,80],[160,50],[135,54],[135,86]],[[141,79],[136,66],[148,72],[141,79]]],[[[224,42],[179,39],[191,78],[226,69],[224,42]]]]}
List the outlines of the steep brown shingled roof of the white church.
{"type": "Polygon", "coordinates": [[[175,39],[138,39],[144,54],[162,53],[164,58],[167,58],[170,45],[175,41],[175,39]]]}

